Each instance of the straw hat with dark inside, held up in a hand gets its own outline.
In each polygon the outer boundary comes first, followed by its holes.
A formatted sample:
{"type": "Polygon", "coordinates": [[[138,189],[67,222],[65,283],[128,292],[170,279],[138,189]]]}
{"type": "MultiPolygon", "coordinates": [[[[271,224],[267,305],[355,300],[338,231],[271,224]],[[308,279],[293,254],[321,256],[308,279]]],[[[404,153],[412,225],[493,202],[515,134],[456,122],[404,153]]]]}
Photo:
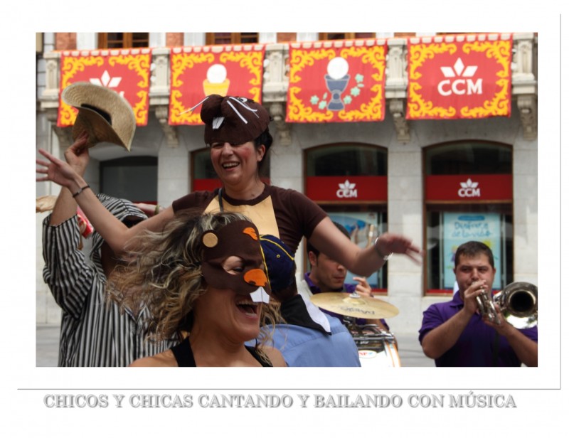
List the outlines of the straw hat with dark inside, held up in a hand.
{"type": "Polygon", "coordinates": [[[130,151],[137,121],[124,97],[107,87],[75,82],[63,90],[61,98],[67,105],[79,110],[73,125],[73,139],[87,131],[87,147],[107,141],[130,151]]]}

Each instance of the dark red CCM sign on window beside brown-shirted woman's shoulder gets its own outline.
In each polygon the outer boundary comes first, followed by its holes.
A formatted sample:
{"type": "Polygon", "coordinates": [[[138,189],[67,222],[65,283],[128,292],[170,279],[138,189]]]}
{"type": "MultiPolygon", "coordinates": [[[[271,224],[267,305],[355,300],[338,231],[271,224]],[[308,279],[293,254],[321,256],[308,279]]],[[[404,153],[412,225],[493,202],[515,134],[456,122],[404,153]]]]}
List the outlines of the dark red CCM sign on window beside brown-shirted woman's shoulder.
{"type": "Polygon", "coordinates": [[[387,201],[387,176],[308,176],[307,196],[324,201],[387,201]]]}

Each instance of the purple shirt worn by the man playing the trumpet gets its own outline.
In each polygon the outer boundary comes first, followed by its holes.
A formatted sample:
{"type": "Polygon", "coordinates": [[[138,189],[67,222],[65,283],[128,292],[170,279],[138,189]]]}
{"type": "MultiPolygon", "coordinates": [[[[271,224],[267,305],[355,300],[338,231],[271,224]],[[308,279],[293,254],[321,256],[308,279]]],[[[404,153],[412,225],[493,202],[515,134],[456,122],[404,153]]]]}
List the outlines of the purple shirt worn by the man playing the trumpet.
{"type": "MultiPolygon", "coordinates": [[[[423,312],[419,341],[432,329],[448,321],[464,306],[460,294],[454,294],[451,301],[432,304],[423,312]]],[[[537,326],[520,330],[533,341],[538,341],[537,326]]],[[[472,315],[468,325],[462,331],[457,343],[440,358],[435,359],[437,366],[494,366],[494,343],[496,331],[484,324],[482,316],[472,315]]],[[[514,353],[504,336],[498,337],[499,353],[495,366],[520,366],[521,361],[514,353]]]]}

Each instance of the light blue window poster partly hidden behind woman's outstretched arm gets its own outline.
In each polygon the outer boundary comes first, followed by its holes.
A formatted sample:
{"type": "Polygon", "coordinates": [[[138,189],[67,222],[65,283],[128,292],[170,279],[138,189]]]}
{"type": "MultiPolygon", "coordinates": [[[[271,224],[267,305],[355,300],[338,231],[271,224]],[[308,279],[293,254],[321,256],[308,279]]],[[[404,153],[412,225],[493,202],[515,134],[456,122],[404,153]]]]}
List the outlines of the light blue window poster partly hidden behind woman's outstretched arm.
{"type": "MultiPolygon", "coordinates": [[[[350,233],[350,239],[356,245],[362,248],[373,245],[378,234],[383,230],[378,230],[378,213],[328,213],[331,220],[344,225],[344,228],[350,233]]],[[[372,288],[378,287],[378,274],[374,273],[368,277],[368,283],[372,288]]],[[[346,283],[355,283],[353,274],[348,272],[346,275],[346,283]]]]}

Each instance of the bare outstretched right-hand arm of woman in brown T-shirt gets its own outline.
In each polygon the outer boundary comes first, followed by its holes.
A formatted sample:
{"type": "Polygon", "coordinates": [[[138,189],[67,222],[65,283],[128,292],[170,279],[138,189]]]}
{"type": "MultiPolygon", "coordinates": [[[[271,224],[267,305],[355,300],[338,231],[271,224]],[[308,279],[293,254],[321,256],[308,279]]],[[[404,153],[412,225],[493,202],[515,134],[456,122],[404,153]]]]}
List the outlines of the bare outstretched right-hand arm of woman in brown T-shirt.
{"type": "Polygon", "coordinates": [[[383,233],[375,245],[365,249],[358,247],[341,233],[330,218],[324,218],[314,228],[310,242],[319,251],[337,260],[354,274],[369,277],[381,269],[385,257],[391,253],[403,254],[420,262],[422,251],[410,239],[402,235],[383,233]]]}

